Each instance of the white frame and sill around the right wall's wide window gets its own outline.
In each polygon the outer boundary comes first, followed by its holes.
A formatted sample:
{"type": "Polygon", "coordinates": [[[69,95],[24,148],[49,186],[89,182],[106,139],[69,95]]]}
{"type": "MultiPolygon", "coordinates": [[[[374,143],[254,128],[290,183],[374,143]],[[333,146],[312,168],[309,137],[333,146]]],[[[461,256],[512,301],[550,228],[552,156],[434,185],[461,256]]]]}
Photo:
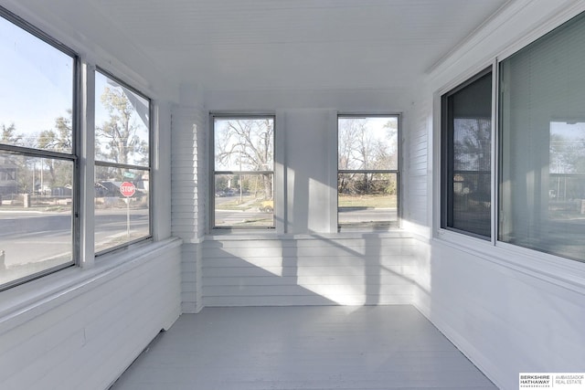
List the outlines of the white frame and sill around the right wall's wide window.
{"type": "MultiPolygon", "coordinates": [[[[480,73],[482,69],[490,67],[492,69],[492,238],[485,240],[480,237],[473,237],[471,235],[456,231],[454,229],[447,229],[441,226],[442,218],[442,197],[443,192],[441,188],[442,170],[433,170],[433,185],[432,193],[439,196],[433,196],[430,199],[429,205],[432,206],[433,216],[433,233],[432,237],[437,238],[444,245],[463,250],[468,253],[488,259],[496,264],[505,267],[512,267],[515,269],[523,269],[525,272],[537,272],[541,275],[546,275],[550,280],[554,280],[559,285],[567,286],[572,283],[572,278],[575,274],[581,274],[585,271],[585,260],[578,258],[571,258],[557,253],[540,250],[538,248],[528,248],[519,246],[515,243],[509,243],[500,240],[500,197],[501,197],[501,175],[502,175],[502,115],[501,102],[502,93],[505,91],[505,85],[501,85],[501,67],[507,58],[511,58],[519,51],[537,43],[540,39],[547,37],[548,34],[562,28],[572,19],[583,16],[585,9],[574,10],[574,12],[567,13],[562,17],[550,21],[548,24],[539,26],[536,32],[530,35],[529,39],[516,42],[509,47],[504,47],[499,53],[495,53],[491,57],[490,64],[483,62],[480,66],[473,69],[468,69],[462,73],[457,79],[453,79],[450,83],[443,84],[441,89],[435,90],[433,94],[433,142],[432,147],[434,156],[432,162],[435,166],[441,166],[442,144],[441,144],[441,126],[443,123],[443,111],[441,97],[450,90],[457,88],[463,84],[467,79],[473,79],[475,75],[480,73]],[[569,273],[568,273],[569,271],[569,273]]],[[[557,119],[552,118],[552,119],[557,119]]]]}

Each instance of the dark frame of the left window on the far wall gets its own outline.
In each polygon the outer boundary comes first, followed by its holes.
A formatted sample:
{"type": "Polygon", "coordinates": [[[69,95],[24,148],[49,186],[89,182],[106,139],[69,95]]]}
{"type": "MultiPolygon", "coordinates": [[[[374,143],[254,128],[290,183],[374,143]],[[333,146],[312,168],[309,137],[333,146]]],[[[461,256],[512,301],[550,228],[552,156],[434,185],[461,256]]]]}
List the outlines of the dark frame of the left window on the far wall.
{"type": "Polygon", "coordinates": [[[238,113],[238,112],[209,112],[209,193],[208,193],[208,214],[207,227],[209,232],[219,233],[222,231],[274,231],[276,229],[277,189],[276,189],[276,115],[274,113],[238,113]],[[271,171],[216,171],[215,161],[215,121],[216,119],[234,120],[272,120],[272,170],[271,171]],[[272,175],[272,224],[271,226],[216,226],[216,176],[220,174],[271,174],[272,175]]]}

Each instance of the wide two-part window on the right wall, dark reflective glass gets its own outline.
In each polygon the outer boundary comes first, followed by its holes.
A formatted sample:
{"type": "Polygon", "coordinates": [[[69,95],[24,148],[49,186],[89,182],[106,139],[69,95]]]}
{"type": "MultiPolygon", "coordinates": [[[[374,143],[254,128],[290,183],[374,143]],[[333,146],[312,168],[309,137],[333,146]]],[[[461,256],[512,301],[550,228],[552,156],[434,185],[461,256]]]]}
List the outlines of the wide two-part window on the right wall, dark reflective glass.
{"type": "Polygon", "coordinates": [[[503,59],[497,148],[491,69],[442,96],[442,228],[585,261],[583,63],[585,14],[503,59]]]}

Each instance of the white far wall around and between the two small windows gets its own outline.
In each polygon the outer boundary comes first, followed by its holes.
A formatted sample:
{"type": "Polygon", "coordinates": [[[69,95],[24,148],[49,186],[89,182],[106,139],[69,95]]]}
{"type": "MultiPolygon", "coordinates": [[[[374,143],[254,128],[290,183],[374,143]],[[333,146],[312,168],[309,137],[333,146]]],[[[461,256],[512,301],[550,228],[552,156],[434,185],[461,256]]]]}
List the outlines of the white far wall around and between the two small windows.
{"type": "Polygon", "coordinates": [[[337,233],[337,114],[409,107],[402,90],[207,91],[206,109],[272,113],[275,229],[208,231],[205,306],[391,304],[413,297],[414,241],[404,231],[337,233]]]}

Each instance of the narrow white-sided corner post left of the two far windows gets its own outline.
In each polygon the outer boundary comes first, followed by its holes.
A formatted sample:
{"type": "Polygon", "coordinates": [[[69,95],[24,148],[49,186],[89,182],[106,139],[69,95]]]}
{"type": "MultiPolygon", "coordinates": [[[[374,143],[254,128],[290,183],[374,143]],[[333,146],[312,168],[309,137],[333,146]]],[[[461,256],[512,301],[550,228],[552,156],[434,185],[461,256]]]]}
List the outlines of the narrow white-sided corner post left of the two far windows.
{"type": "Polygon", "coordinates": [[[197,101],[192,107],[176,106],[172,123],[173,236],[183,239],[181,296],[183,312],[197,312],[201,300],[201,250],[198,242],[205,231],[204,199],[207,173],[202,163],[207,121],[197,101]]]}

